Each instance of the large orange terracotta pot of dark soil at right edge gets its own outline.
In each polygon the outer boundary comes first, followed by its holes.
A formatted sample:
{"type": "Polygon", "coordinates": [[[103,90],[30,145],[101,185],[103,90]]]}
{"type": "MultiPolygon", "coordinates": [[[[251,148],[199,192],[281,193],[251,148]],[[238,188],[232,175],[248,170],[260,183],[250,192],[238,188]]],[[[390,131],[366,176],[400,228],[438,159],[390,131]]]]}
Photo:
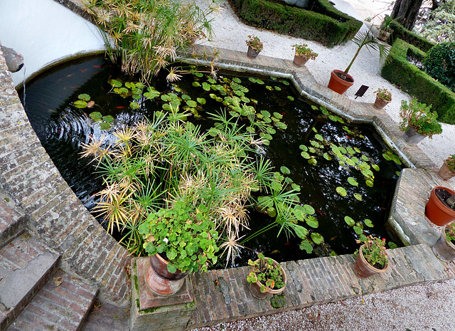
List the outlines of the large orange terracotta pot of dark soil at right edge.
{"type": "Polygon", "coordinates": [[[444,186],[435,186],[430,193],[425,216],[437,226],[455,220],[455,192],[444,186]]]}

